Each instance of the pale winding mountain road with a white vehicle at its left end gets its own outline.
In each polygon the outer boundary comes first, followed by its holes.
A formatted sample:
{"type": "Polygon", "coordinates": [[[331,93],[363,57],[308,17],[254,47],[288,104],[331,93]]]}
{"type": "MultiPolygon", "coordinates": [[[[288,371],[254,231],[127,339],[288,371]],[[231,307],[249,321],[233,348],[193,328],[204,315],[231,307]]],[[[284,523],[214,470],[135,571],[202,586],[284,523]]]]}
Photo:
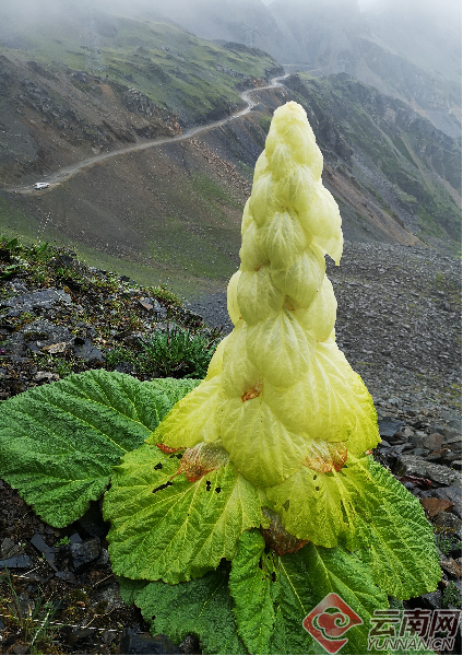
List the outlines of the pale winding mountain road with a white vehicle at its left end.
{"type": "MultiPolygon", "coordinates": [[[[276,89],[278,86],[283,86],[283,84],[280,82],[280,80],[284,80],[287,77],[288,75],[273,78],[271,83],[268,86],[259,86],[259,87],[251,89],[249,91],[245,91],[244,93],[241,93],[240,94],[241,99],[247,104],[247,107],[245,109],[241,109],[240,112],[236,112],[235,114],[227,116],[227,118],[223,118],[221,120],[213,121],[205,126],[198,126],[195,128],[190,128],[189,130],[187,130],[182,134],[178,134],[177,137],[151,139],[150,141],[145,141],[144,143],[135,143],[133,145],[128,145],[128,147],[124,147],[124,148],[121,148],[118,150],[110,151],[108,153],[103,153],[102,155],[95,155],[94,157],[90,157],[88,160],[83,160],[82,162],[79,162],[78,164],[72,164],[71,166],[66,166],[56,173],[51,173],[50,175],[47,176],[47,180],[46,180],[50,186],[48,189],[41,190],[41,192],[44,192],[44,191],[46,192],[47,190],[52,189],[54,187],[57,187],[61,183],[69,180],[69,178],[73,177],[78,173],[80,173],[82,171],[87,171],[92,166],[95,166],[95,164],[99,164],[100,162],[104,162],[105,160],[109,160],[111,157],[117,157],[119,155],[124,155],[127,153],[133,153],[133,152],[138,152],[138,151],[147,150],[150,148],[155,148],[157,145],[164,145],[165,143],[175,143],[176,141],[185,141],[186,139],[190,139],[191,137],[195,137],[197,134],[201,134],[213,128],[218,128],[221,126],[224,126],[233,120],[236,120],[237,118],[240,118],[241,116],[246,116],[247,114],[249,114],[251,112],[251,109],[253,107],[256,107],[256,105],[259,104],[258,101],[256,101],[252,97],[256,93],[258,93],[260,91],[266,91],[269,89],[276,89]]],[[[1,185],[1,184],[0,184],[0,186],[4,191],[10,191],[12,194],[23,194],[23,195],[37,194],[37,190],[35,190],[34,188],[31,188],[29,186],[12,187],[12,186],[1,185]]]]}

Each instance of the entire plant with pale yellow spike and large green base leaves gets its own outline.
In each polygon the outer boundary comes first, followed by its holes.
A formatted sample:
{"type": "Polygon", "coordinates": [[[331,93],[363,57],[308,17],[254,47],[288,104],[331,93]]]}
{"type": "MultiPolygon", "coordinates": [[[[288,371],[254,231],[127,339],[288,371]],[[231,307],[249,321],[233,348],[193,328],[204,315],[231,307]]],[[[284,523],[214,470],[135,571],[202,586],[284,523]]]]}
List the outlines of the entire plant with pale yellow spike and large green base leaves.
{"type": "Polygon", "coordinates": [[[0,477],[56,527],[106,491],[124,600],[203,654],[318,653],[302,620],[333,594],[359,618],[343,654],[365,654],[388,596],[441,578],[423,507],[371,457],[375,406],[335,341],[324,257],[340,261],[343,237],[321,172],[302,108],[277,109],[228,285],[234,331],[209,367],[212,341],[177,328],[139,355],[203,380],[88,371],[2,403],[0,477]]]}

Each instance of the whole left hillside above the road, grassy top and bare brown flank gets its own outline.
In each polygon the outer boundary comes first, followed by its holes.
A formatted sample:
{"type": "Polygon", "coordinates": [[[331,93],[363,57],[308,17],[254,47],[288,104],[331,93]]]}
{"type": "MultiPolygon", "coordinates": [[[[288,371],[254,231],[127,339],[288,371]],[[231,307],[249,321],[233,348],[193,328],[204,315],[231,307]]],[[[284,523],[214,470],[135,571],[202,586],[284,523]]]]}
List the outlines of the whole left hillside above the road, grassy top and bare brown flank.
{"type": "Polygon", "coordinates": [[[3,181],[227,116],[240,89],[280,71],[166,23],[67,8],[21,25],[0,8],[3,181]]]}

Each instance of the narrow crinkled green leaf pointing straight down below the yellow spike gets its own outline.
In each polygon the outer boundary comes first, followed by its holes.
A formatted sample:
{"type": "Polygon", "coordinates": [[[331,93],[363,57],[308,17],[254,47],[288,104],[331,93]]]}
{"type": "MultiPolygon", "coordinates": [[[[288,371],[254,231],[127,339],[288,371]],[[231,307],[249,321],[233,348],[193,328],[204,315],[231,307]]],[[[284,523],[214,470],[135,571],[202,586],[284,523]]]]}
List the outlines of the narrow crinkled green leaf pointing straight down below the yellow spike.
{"type": "Polygon", "coordinates": [[[238,633],[250,654],[269,654],[275,625],[272,593],[277,584],[273,554],[264,557],[265,540],[258,530],[246,531],[232,563],[230,593],[238,633]]]}

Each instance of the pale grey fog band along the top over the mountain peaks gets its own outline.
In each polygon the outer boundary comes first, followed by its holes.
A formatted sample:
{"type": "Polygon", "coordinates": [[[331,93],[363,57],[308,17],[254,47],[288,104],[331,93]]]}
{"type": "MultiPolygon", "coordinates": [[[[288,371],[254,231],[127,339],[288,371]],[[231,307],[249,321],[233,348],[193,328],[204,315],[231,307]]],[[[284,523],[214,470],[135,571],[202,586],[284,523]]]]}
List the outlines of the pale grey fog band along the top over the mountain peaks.
{"type": "MultiPolygon", "coordinates": [[[[367,21],[364,25],[380,34],[384,40],[384,30],[391,38],[392,48],[407,51],[406,40],[411,37],[411,47],[423,50],[424,45],[416,44],[420,38],[434,42],[435,47],[442,44],[442,49],[449,49],[447,33],[450,35],[450,46],[455,49],[461,38],[461,0],[0,0],[0,45],[8,44],[9,34],[21,34],[28,25],[37,21],[52,25],[59,16],[104,11],[138,20],[154,19],[169,20],[193,34],[204,38],[242,40],[247,45],[257,45],[278,57],[275,42],[288,39],[282,25],[286,21],[298,22],[298,15],[307,24],[310,13],[328,15],[329,21],[341,23],[347,16],[349,20],[367,21]],[[333,11],[334,8],[334,11],[333,11]],[[336,11],[339,8],[340,12],[336,11]],[[328,12],[328,14],[325,14],[328,12]],[[361,13],[360,13],[361,12],[361,13]],[[230,24],[234,27],[230,30],[230,24]],[[372,26],[372,27],[371,27],[372,26]],[[260,40],[248,43],[242,36],[249,28],[260,32],[260,40]],[[403,48],[394,43],[394,32],[402,34],[403,48]]],[[[323,25],[324,27],[325,25],[323,25]]],[[[346,26],[345,30],[349,30],[346,26]]],[[[419,55],[422,57],[422,55],[419,55]]],[[[455,56],[453,57],[455,59],[455,56]]]]}

